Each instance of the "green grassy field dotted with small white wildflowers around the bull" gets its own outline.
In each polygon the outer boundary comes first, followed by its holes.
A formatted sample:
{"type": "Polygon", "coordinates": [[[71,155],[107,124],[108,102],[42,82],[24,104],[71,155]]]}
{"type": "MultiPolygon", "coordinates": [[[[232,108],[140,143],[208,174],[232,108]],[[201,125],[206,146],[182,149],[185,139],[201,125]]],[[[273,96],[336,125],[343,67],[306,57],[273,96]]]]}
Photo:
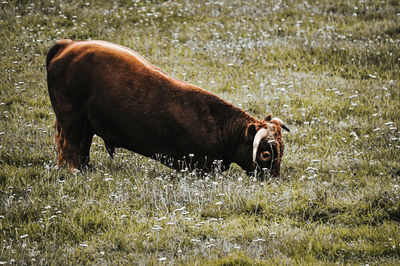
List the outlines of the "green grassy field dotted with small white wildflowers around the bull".
{"type": "Polygon", "coordinates": [[[400,263],[400,1],[6,0],[0,19],[0,264],[400,263]],[[97,137],[93,171],[57,169],[64,37],[282,118],[281,178],[110,160],[97,137]]]}

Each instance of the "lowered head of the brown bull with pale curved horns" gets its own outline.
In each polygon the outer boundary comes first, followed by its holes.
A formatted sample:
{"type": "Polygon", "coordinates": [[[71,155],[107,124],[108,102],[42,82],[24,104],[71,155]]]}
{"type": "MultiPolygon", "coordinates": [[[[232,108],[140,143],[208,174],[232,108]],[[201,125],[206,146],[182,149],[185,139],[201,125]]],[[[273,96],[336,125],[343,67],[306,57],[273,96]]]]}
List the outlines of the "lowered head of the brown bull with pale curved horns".
{"type": "Polygon", "coordinates": [[[282,128],[289,131],[279,118],[269,114],[261,124],[251,123],[246,129],[246,138],[252,141],[252,163],[246,171],[280,175],[280,166],[285,145],[282,139],[282,128]]]}

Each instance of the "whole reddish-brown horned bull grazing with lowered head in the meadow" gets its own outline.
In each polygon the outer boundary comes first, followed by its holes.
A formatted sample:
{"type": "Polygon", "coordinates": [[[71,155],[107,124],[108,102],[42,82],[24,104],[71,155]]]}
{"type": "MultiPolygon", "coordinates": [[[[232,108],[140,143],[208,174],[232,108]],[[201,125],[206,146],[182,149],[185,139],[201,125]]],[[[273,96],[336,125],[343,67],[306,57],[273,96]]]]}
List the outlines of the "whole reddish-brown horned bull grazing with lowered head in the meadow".
{"type": "Polygon", "coordinates": [[[168,76],[129,48],[63,39],[47,54],[47,84],[56,115],[58,165],[89,162],[94,134],[112,156],[122,147],[174,169],[279,176],[284,144],[279,118],[257,120],[201,88],[168,76]]]}

